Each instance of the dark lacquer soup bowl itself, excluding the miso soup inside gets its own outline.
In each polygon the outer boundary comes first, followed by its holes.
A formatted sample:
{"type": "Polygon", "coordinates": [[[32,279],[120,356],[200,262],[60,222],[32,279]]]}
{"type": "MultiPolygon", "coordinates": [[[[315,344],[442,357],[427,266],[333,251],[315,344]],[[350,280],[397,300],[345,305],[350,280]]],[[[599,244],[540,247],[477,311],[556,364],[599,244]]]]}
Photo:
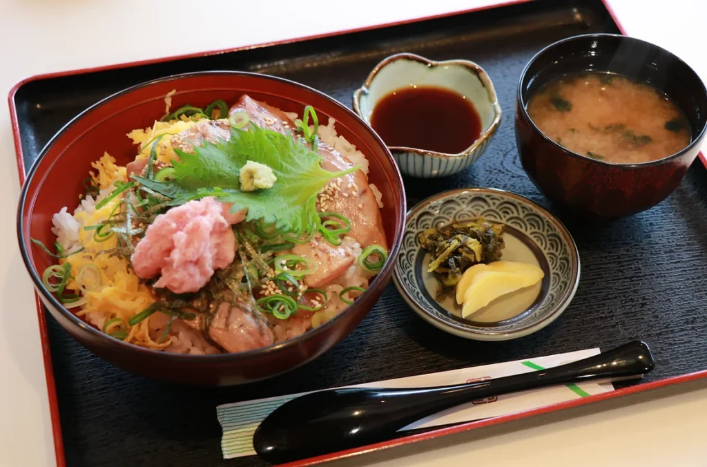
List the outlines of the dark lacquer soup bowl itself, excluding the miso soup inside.
{"type": "Polygon", "coordinates": [[[707,124],[707,91],[685,62],[660,47],[622,35],[580,35],[540,51],[520,75],[515,137],[525,172],[543,194],[581,215],[613,219],[655,206],[677,188],[699,153],[707,124]],[[610,71],[665,92],[685,114],[691,143],[677,154],[644,163],[612,163],[575,154],[546,137],[527,103],[551,79],[610,71]]]}

